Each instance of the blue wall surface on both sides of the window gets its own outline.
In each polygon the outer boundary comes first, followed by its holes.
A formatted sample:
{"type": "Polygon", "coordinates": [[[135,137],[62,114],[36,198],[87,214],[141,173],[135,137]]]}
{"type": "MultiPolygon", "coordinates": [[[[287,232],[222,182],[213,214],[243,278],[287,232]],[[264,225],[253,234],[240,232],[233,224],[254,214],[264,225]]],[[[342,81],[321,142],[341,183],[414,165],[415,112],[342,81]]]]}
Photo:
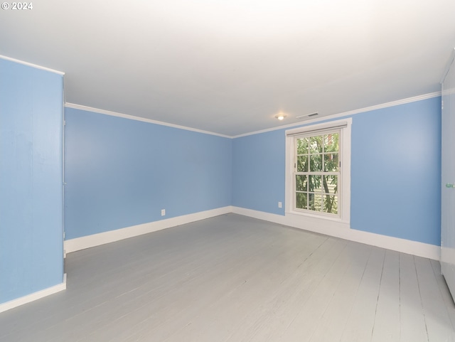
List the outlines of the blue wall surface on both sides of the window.
{"type": "MultiPolygon", "coordinates": [[[[232,142],[232,205],[284,215],[285,130],[232,142]]],[[[353,115],[351,228],[440,245],[441,98],[353,115]]]]}

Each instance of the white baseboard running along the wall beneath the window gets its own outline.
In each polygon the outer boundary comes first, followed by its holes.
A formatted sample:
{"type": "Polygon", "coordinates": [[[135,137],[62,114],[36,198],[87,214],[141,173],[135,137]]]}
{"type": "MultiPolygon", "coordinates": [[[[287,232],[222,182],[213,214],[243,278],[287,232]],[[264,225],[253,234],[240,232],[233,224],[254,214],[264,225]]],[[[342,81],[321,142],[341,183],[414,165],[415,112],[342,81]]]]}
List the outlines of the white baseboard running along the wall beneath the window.
{"type": "Polygon", "coordinates": [[[350,229],[346,223],[333,222],[315,218],[314,222],[308,224],[301,223],[301,217],[296,218],[296,215],[286,214],[286,216],[264,213],[262,211],[232,207],[232,213],[239,215],[257,218],[259,220],[266,220],[280,225],[289,225],[290,227],[299,228],[302,230],[309,230],[314,233],[330,235],[333,237],[340,237],[341,239],[361,242],[367,245],[382,247],[387,250],[395,250],[418,257],[427,257],[433,260],[440,259],[441,247],[430,245],[428,243],[417,242],[412,240],[401,239],[399,237],[391,237],[375,233],[368,233],[362,230],[350,229]],[[316,223],[317,224],[313,224],[316,223]]]}

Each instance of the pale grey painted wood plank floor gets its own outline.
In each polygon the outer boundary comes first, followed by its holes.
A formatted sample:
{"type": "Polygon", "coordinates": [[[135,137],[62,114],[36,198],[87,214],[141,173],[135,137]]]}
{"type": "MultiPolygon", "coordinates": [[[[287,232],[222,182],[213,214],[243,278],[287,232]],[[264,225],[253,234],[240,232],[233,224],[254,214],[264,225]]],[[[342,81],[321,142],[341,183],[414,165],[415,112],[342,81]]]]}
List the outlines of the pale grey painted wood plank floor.
{"type": "Polygon", "coordinates": [[[455,341],[439,262],[228,214],[70,253],[0,341],[455,341]]]}

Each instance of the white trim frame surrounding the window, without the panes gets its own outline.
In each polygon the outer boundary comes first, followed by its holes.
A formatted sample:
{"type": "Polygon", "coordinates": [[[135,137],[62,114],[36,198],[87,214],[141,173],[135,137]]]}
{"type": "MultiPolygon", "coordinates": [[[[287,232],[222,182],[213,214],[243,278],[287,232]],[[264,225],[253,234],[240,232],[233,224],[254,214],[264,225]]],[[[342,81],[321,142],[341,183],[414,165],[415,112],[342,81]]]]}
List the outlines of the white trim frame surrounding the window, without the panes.
{"type": "Polygon", "coordinates": [[[286,205],[285,215],[299,215],[311,218],[321,218],[323,220],[331,220],[341,223],[350,224],[350,132],[352,118],[324,122],[323,124],[311,124],[309,126],[299,127],[296,129],[288,129],[286,131],[286,205]],[[308,213],[294,210],[294,139],[297,134],[306,134],[314,130],[330,129],[331,127],[339,127],[345,125],[341,129],[341,198],[340,198],[340,215],[332,217],[330,215],[319,215],[316,213],[308,213]]]}

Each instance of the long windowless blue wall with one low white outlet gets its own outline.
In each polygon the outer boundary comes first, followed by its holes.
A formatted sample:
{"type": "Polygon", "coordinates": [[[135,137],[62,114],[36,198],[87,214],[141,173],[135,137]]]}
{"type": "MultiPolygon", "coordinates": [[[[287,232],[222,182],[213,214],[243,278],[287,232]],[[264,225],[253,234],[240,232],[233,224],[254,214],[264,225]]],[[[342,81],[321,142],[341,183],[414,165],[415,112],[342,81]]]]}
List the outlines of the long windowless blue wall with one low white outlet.
{"type": "Polygon", "coordinates": [[[66,239],[230,205],[232,139],[72,108],[65,120],[66,239]]]}

